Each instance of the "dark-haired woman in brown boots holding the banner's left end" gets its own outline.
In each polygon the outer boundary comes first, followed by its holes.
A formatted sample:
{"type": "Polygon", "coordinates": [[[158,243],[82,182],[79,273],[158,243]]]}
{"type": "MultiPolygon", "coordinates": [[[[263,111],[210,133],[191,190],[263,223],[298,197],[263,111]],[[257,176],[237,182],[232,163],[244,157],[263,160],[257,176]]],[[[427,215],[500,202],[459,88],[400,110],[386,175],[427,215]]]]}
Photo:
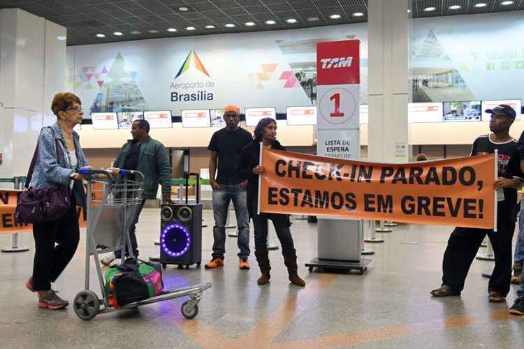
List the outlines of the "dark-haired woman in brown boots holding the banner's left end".
{"type": "Polygon", "coordinates": [[[255,128],[254,140],[242,149],[240,160],[238,161],[237,170],[242,177],[246,178],[247,184],[247,209],[249,217],[252,218],[255,234],[255,256],[259,262],[261,276],[256,282],[264,285],[270,279],[270,262],[268,257],[268,219],[275,226],[277,237],[282,245],[282,255],[284,255],[284,264],[289,273],[289,281],[295,285],[305,286],[305,281],[300,279],[297,274],[298,265],[296,262],[296,250],[291,237],[289,226],[289,216],[286,214],[257,214],[259,200],[259,174],[264,171],[260,166],[260,143],[263,147],[286,150],[275,139],[277,136],[277,121],[266,117],[259,121],[255,128]]]}

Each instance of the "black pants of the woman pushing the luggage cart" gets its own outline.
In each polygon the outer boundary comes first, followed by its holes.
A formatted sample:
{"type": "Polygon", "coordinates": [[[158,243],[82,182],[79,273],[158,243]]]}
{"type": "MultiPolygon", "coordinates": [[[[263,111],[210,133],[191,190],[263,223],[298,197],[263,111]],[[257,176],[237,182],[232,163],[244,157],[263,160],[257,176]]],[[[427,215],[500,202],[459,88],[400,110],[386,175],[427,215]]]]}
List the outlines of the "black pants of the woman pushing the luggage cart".
{"type": "Polygon", "coordinates": [[[33,225],[35,242],[33,288],[36,291],[51,289],[73,255],[80,239],[76,202],[71,195],[71,207],[66,214],[53,222],[33,225]]]}

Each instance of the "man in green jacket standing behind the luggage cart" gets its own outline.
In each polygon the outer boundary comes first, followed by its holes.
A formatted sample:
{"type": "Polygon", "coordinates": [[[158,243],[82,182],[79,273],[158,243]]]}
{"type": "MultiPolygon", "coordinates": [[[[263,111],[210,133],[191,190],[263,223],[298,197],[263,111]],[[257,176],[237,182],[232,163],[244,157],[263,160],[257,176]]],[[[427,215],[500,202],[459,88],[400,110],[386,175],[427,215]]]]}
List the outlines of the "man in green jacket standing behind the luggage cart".
{"type": "MultiPolygon", "coordinates": [[[[119,168],[125,170],[136,170],[144,175],[144,191],[141,200],[136,207],[136,214],[131,226],[129,227],[129,238],[133,255],[138,256],[138,244],[136,242],[136,223],[144,207],[146,199],[157,198],[159,184],[162,186],[162,202],[168,202],[171,198],[171,167],[166,148],[158,140],[154,140],[149,135],[150,124],[146,120],[136,120],[131,126],[132,140],[128,140],[122,146],[119,154],[113,163],[112,170],[117,172],[119,168]]],[[[128,174],[132,176],[132,174],[128,174]]],[[[129,179],[133,179],[128,177],[129,179]]],[[[115,258],[121,258],[122,251],[108,253],[101,262],[110,265],[115,258]]],[[[126,253],[127,254],[127,253],[126,253]]]]}

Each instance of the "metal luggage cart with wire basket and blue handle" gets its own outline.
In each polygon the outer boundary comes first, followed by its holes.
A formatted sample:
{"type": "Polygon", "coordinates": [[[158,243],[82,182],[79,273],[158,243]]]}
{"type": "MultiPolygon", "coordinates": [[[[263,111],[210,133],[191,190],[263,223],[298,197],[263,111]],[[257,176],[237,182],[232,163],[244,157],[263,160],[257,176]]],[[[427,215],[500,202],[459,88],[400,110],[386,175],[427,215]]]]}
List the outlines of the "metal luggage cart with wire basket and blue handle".
{"type": "Polygon", "coordinates": [[[198,314],[198,302],[201,300],[201,295],[203,291],[211,287],[211,283],[164,291],[161,295],[126,304],[119,309],[109,305],[99,253],[121,250],[122,255],[125,255],[125,246],[128,246],[129,254],[133,257],[128,231],[140,204],[144,176],[138,171],[127,170],[120,170],[119,176],[115,178],[108,170],[80,169],[78,172],[87,177],[87,242],[85,290],[78,292],[73,300],[76,315],[82,320],[91,320],[99,313],[133,309],[145,304],[188,296],[189,299],[181,307],[182,315],[188,319],[194,318],[198,314]],[[126,176],[128,173],[134,174],[135,178],[128,179],[126,176]],[[102,294],[101,299],[95,292],[89,290],[91,256],[94,257],[102,294]]]}

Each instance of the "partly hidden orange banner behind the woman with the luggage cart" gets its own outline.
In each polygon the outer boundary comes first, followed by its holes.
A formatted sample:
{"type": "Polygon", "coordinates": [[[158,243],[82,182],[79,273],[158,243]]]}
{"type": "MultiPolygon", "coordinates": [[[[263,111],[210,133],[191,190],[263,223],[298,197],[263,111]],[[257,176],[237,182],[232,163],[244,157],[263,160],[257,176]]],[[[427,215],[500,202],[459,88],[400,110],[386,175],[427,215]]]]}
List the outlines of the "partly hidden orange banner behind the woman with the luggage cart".
{"type": "MultiPolygon", "coordinates": [[[[15,209],[19,193],[22,193],[22,191],[0,190],[0,234],[33,231],[33,226],[31,224],[20,225],[15,221],[15,209]]],[[[85,209],[78,206],[76,211],[80,228],[85,228],[87,221],[85,209]]]]}

